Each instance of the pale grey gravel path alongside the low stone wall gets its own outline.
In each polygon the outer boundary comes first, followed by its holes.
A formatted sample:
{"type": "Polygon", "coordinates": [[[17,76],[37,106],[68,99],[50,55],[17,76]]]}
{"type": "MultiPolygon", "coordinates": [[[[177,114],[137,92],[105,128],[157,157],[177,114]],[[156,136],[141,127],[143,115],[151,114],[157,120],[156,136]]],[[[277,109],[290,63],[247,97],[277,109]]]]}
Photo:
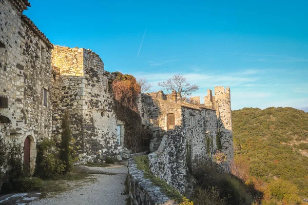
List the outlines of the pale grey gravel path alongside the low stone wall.
{"type": "Polygon", "coordinates": [[[99,168],[80,166],[83,171],[97,173],[94,183],[56,195],[53,198],[43,198],[32,201],[31,205],[41,204],[102,204],[125,205],[127,195],[122,195],[127,176],[127,167],[99,168]],[[99,174],[104,173],[104,174],[99,174]]]}

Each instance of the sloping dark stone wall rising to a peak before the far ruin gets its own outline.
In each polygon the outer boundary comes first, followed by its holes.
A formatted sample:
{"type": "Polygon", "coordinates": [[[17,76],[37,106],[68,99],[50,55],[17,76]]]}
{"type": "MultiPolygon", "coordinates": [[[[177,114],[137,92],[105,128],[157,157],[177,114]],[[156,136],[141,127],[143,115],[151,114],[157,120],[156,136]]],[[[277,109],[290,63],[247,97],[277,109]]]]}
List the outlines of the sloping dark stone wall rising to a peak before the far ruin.
{"type": "Polygon", "coordinates": [[[184,194],[188,187],[186,135],[182,126],[166,132],[159,149],[148,155],[151,172],[184,194]]]}

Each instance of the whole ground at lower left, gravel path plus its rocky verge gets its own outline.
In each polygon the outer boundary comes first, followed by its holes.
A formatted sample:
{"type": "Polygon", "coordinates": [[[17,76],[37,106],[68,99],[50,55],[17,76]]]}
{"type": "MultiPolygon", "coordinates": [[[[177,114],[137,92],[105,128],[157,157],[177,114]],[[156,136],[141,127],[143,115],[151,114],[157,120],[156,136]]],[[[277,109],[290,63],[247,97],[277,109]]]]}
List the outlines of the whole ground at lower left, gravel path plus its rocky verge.
{"type": "MultiPolygon", "coordinates": [[[[75,182],[70,191],[57,195],[45,195],[41,193],[18,193],[0,197],[0,204],[121,204],[125,205],[128,195],[124,193],[127,166],[118,165],[112,167],[86,167],[79,166],[79,170],[91,173],[95,180],[75,182]]],[[[72,187],[71,182],[67,185],[72,187]]]]}

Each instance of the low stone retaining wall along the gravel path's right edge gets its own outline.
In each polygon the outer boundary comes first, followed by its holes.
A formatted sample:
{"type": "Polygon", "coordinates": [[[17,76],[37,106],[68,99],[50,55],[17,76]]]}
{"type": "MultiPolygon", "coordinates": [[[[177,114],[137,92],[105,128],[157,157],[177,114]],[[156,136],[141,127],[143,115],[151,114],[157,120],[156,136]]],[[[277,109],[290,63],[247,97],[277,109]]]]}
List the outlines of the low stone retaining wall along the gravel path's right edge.
{"type": "Polygon", "coordinates": [[[143,178],[144,172],[137,169],[132,158],[128,161],[129,200],[132,205],[171,205],[177,204],[169,199],[160,187],[153,185],[151,180],[143,178]]]}

